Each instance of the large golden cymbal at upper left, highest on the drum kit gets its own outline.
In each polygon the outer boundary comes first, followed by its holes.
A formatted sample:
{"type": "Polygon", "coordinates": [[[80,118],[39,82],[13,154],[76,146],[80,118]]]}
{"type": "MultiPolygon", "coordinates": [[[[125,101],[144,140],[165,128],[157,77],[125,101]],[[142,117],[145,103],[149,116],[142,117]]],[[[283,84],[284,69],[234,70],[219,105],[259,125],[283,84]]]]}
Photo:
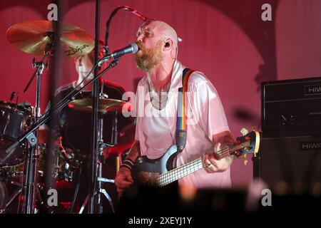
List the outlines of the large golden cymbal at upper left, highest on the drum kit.
{"type": "MultiPolygon", "coordinates": [[[[9,42],[33,55],[44,55],[48,43],[53,41],[56,21],[24,21],[11,26],[6,31],[9,42]]],[[[81,28],[69,24],[62,25],[61,46],[67,56],[78,57],[93,50],[93,37],[81,28]]]]}

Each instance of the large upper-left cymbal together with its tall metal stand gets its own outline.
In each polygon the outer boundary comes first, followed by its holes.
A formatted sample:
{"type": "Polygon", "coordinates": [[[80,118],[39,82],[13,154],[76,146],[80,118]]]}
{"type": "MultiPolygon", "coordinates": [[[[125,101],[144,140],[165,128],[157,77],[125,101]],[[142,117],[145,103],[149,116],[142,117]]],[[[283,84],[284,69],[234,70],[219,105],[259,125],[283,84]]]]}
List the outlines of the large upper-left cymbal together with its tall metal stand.
{"type": "MultiPolygon", "coordinates": [[[[33,60],[33,68],[36,68],[31,80],[26,86],[24,92],[29,88],[31,82],[36,76],[36,108],[34,113],[35,121],[40,117],[40,95],[41,95],[41,74],[48,68],[48,63],[44,63],[46,56],[51,55],[53,51],[53,37],[55,32],[56,22],[54,21],[25,21],[20,24],[11,26],[7,32],[6,37],[9,42],[19,48],[21,51],[35,55],[44,55],[41,61],[33,60]]],[[[65,53],[68,56],[81,56],[89,53],[93,48],[93,38],[88,35],[81,28],[70,25],[63,25],[61,42],[65,53]],[[74,37],[77,37],[75,39],[74,37]],[[81,46],[78,44],[81,43],[81,46]]],[[[36,151],[38,150],[37,132],[35,131],[39,125],[34,126],[24,135],[20,136],[5,150],[5,155],[0,157],[1,164],[5,162],[14,154],[15,147],[18,146],[24,139],[29,140],[29,151],[26,152],[26,160],[24,166],[24,208],[23,212],[26,214],[34,213],[34,181],[36,178],[37,159],[36,151]],[[33,133],[34,132],[34,133],[33,133]]]]}

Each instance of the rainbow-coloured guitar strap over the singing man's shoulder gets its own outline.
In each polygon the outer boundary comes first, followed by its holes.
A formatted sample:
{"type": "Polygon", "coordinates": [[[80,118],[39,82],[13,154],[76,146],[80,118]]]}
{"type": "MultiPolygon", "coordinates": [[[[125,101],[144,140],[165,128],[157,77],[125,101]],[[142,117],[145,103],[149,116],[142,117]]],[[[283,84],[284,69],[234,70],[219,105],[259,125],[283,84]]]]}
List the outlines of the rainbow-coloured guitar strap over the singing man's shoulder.
{"type": "Polygon", "coordinates": [[[187,138],[187,103],[186,91],[188,90],[188,79],[193,73],[193,70],[185,68],[183,70],[182,83],[183,86],[178,88],[178,107],[176,121],[176,146],[178,151],[182,151],[186,145],[187,138]]]}

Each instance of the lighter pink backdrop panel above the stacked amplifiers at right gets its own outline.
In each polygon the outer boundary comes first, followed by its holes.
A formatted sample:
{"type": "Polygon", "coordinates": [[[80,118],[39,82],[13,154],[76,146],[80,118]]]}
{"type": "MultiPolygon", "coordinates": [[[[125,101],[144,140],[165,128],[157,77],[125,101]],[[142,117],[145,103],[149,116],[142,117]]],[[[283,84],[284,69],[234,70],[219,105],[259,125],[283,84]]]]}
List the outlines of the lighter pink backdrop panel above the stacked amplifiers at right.
{"type": "Polygon", "coordinates": [[[277,10],[277,76],[321,76],[321,1],[281,1],[277,10]]]}

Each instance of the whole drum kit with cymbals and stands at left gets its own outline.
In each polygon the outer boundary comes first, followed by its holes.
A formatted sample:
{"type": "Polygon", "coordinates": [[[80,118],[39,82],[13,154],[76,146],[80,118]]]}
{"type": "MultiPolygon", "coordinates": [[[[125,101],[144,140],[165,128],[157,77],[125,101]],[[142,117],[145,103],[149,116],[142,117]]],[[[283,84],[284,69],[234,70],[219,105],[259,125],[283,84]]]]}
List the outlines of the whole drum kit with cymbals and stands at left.
{"type": "MultiPolygon", "coordinates": [[[[13,98],[10,99],[10,102],[0,101],[0,184],[10,183],[18,187],[14,193],[3,200],[4,202],[0,200],[0,214],[8,212],[28,213],[28,210],[29,212],[32,210],[31,213],[41,212],[39,204],[45,204],[40,193],[44,190],[45,181],[41,177],[44,177],[47,167],[45,157],[49,150],[49,129],[41,125],[39,129],[34,131],[34,134],[16,143],[10,150],[10,156],[6,151],[21,135],[24,135],[38,123],[42,116],[39,104],[41,74],[48,68],[48,63],[44,63],[45,58],[54,55],[54,36],[54,21],[25,21],[11,26],[6,33],[9,42],[19,50],[33,56],[43,57],[39,62],[34,59],[33,67],[36,68],[36,71],[25,88],[26,91],[31,85],[31,81],[36,78],[36,106],[33,107],[29,103],[17,103],[17,100],[12,103],[13,98]],[[31,160],[36,160],[34,167],[28,167],[31,164],[31,160]],[[36,173],[34,174],[34,179],[28,180],[29,177],[32,177],[31,174],[28,174],[29,172],[36,173]],[[34,190],[35,193],[30,192],[28,187],[34,190]],[[36,205],[34,207],[24,206],[26,197],[30,197],[33,194],[38,196],[34,199],[36,205]],[[18,204],[15,212],[11,207],[11,204],[14,203],[18,204]]],[[[90,53],[94,46],[94,40],[91,35],[81,28],[68,24],[63,24],[62,26],[60,42],[64,53],[69,57],[78,57],[90,53]]],[[[110,113],[113,112],[121,113],[125,104],[126,102],[122,100],[99,98],[99,115],[111,115],[110,113]]],[[[92,99],[73,100],[68,103],[68,108],[76,112],[91,113],[92,99]]],[[[105,143],[108,146],[104,147],[104,152],[121,155],[128,151],[133,144],[135,125],[133,123],[126,125],[126,128],[120,130],[119,133],[117,129],[113,129],[113,131],[114,133],[116,132],[116,136],[119,138],[118,143],[114,147],[105,143]]],[[[103,138],[100,140],[103,140],[103,138]]],[[[86,161],[81,157],[75,156],[76,152],[63,145],[63,137],[61,135],[57,135],[57,139],[54,140],[53,144],[50,147],[51,154],[54,154],[54,167],[51,170],[51,177],[56,182],[67,182],[74,185],[76,183],[76,172],[81,164],[86,161]]],[[[73,194],[69,195],[72,197],[73,194]]],[[[70,202],[72,201],[74,199],[70,199],[70,202]]],[[[73,212],[72,209],[69,208],[69,212],[73,212]]]]}

